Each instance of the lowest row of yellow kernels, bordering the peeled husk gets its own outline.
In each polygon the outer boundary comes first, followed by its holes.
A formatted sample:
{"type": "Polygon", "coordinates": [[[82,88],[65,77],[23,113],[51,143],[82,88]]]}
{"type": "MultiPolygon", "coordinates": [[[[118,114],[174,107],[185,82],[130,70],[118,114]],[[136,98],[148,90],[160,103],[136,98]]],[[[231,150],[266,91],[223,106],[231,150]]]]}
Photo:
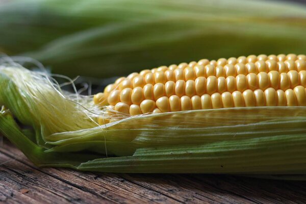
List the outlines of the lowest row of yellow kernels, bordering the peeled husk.
{"type": "Polygon", "coordinates": [[[156,101],[145,99],[139,105],[119,102],[114,109],[133,116],[145,113],[255,106],[306,106],[306,90],[302,86],[297,86],[286,91],[268,88],[265,91],[247,89],[243,92],[213,93],[192,97],[171,95],[160,97],[156,101]]]}

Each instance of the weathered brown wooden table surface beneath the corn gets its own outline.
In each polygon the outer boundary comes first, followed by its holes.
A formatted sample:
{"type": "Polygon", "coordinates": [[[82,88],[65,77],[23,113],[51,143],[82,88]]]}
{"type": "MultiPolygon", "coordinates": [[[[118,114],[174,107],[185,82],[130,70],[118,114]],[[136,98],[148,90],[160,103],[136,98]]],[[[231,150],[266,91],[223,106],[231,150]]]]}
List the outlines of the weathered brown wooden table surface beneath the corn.
{"type": "Polygon", "coordinates": [[[306,203],[306,182],[37,168],[0,144],[0,203],[306,203]]]}

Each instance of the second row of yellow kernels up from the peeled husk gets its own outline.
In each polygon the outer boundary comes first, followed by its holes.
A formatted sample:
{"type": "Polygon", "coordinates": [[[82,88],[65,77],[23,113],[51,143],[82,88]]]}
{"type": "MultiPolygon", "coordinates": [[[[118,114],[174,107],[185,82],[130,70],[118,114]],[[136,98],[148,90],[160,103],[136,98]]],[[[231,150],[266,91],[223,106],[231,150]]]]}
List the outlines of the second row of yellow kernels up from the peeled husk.
{"type": "Polygon", "coordinates": [[[177,82],[168,81],[166,84],[158,83],[155,85],[146,84],[143,88],[136,87],[125,88],[122,91],[114,90],[108,97],[108,103],[115,105],[119,101],[126,104],[140,104],[144,99],[157,100],[162,96],[187,95],[202,95],[204,93],[213,94],[215,92],[234,92],[244,91],[246,89],[262,89],[269,87],[274,89],[287,90],[298,85],[306,87],[306,71],[289,71],[288,73],[279,74],[277,71],[269,73],[261,72],[259,74],[250,73],[246,76],[239,74],[235,77],[220,77],[210,76],[199,77],[195,81],[188,80],[187,82],[179,80],[177,82]]]}

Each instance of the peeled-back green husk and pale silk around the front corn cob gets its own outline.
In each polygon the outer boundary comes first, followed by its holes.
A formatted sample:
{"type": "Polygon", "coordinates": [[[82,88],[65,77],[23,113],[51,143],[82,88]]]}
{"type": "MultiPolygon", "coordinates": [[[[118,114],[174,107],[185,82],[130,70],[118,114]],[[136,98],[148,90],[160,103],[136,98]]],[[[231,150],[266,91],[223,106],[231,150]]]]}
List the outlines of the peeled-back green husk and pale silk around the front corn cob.
{"type": "Polygon", "coordinates": [[[181,111],[99,126],[92,97],[63,91],[45,72],[2,65],[0,87],[0,132],[37,166],[301,180],[306,172],[306,107],[181,111]]]}

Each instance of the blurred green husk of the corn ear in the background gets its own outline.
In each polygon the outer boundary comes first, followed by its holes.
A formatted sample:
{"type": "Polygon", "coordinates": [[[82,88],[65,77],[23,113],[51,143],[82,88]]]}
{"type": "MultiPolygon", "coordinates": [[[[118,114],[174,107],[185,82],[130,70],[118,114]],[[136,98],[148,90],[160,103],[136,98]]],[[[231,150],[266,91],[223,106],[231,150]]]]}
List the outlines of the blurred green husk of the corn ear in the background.
{"type": "Polygon", "coordinates": [[[0,19],[2,52],[70,77],[306,47],[305,6],[276,1],[15,0],[0,19]]]}

